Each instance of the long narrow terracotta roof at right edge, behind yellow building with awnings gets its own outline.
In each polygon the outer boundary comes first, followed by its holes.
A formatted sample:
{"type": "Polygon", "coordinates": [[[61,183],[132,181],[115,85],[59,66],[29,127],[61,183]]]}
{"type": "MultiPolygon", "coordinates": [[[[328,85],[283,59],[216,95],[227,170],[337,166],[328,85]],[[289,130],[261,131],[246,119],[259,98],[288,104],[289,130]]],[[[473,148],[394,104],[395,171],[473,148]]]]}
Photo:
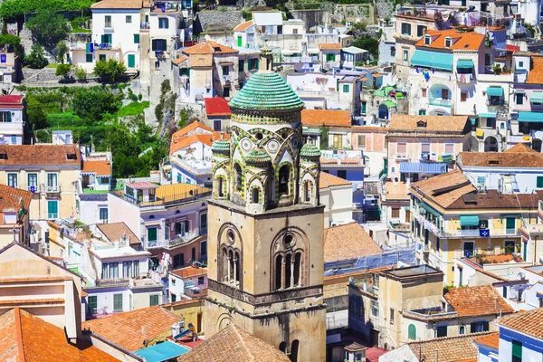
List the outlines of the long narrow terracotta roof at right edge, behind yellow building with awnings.
{"type": "Polygon", "coordinates": [[[461,167],[543,167],[543,154],[530,152],[461,152],[461,167]]]}

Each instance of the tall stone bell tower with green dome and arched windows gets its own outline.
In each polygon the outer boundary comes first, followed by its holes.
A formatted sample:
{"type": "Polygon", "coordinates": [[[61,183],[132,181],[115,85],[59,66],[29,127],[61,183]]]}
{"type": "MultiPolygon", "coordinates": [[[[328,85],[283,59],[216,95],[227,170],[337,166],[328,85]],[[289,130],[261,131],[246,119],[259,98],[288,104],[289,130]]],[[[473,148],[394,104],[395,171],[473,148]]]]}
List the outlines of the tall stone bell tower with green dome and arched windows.
{"type": "Polygon", "coordinates": [[[212,146],[205,334],[234,323],[292,361],[322,360],[320,151],[302,145],[304,104],[271,62],[263,47],[230,102],[231,139],[212,146]]]}

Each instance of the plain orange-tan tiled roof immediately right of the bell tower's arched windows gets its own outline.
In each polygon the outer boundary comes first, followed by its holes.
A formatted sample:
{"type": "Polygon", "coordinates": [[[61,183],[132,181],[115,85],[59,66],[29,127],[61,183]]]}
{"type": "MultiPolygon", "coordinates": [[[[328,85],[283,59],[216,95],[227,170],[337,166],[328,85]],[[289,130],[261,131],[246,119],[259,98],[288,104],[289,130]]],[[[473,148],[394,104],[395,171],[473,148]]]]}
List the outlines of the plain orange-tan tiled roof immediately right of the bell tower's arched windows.
{"type": "Polygon", "coordinates": [[[324,229],[324,262],[357,259],[382,252],[379,245],[356,222],[324,229]]]}

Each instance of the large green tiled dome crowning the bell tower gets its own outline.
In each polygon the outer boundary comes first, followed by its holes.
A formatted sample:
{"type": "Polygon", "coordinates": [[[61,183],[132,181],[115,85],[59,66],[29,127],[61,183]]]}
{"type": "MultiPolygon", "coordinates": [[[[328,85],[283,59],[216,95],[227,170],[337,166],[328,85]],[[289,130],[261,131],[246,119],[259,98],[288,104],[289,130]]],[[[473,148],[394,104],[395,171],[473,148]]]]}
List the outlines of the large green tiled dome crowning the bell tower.
{"type": "Polygon", "coordinates": [[[230,107],[239,110],[300,110],[300,97],[279,74],[257,71],[238,91],[230,107]]]}

